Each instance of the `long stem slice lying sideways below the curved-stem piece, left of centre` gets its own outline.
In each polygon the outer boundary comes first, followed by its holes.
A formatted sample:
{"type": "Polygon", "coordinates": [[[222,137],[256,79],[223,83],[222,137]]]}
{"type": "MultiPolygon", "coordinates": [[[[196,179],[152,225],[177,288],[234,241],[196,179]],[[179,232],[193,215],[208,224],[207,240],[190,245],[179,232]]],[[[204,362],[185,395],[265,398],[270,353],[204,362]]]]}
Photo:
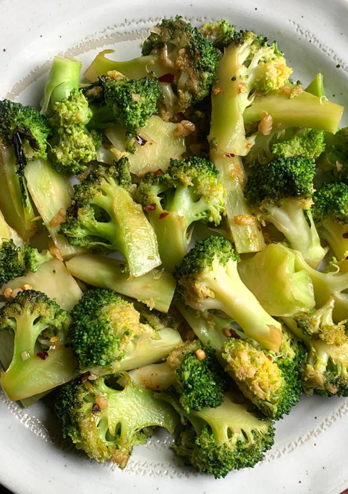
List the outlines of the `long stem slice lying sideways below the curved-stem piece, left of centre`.
{"type": "Polygon", "coordinates": [[[67,269],[84,283],[114,290],[165,313],[176,287],[171,274],[160,270],[129,280],[123,261],[93,254],[73,257],[67,262],[67,269]]]}

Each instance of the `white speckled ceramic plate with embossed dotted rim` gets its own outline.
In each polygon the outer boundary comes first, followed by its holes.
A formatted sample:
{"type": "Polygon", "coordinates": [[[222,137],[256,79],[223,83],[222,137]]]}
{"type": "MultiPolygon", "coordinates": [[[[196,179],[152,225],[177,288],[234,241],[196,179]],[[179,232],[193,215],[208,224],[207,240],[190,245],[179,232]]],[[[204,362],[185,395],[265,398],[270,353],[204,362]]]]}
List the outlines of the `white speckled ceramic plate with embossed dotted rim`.
{"type": "MultiPolygon", "coordinates": [[[[225,17],[277,39],[295,80],[306,85],[320,70],[328,97],[348,108],[344,0],[1,0],[0,98],[37,104],[55,54],[76,56],[84,67],[103,48],[136,56],[148,28],[177,13],[195,22],[225,17]]],[[[137,447],[125,471],[91,461],[61,440],[49,402],[23,409],[0,391],[0,483],[16,493],[337,494],[348,486],[346,399],[303,398],[277,423],[262,463],[219,481],[181,465],[165,434],[137,447]]]]}

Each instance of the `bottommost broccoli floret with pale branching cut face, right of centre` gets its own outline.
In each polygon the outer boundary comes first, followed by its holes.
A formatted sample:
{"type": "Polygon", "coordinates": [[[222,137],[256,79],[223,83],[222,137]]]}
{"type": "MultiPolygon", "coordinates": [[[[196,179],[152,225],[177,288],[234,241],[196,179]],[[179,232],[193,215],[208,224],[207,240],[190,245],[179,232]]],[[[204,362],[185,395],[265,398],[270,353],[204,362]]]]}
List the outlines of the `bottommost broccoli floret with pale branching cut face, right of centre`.
{"type": "Polygon", "coordinates": [[[225,394],[217,408],[186,414],[175,397],[159,394],[180,413],[183,429],[173,449],[194,468],[215,479],[229,471],[253,467],[274,442],[272,421],[249,411],[248,403],[234,403],[225,394]]]}

